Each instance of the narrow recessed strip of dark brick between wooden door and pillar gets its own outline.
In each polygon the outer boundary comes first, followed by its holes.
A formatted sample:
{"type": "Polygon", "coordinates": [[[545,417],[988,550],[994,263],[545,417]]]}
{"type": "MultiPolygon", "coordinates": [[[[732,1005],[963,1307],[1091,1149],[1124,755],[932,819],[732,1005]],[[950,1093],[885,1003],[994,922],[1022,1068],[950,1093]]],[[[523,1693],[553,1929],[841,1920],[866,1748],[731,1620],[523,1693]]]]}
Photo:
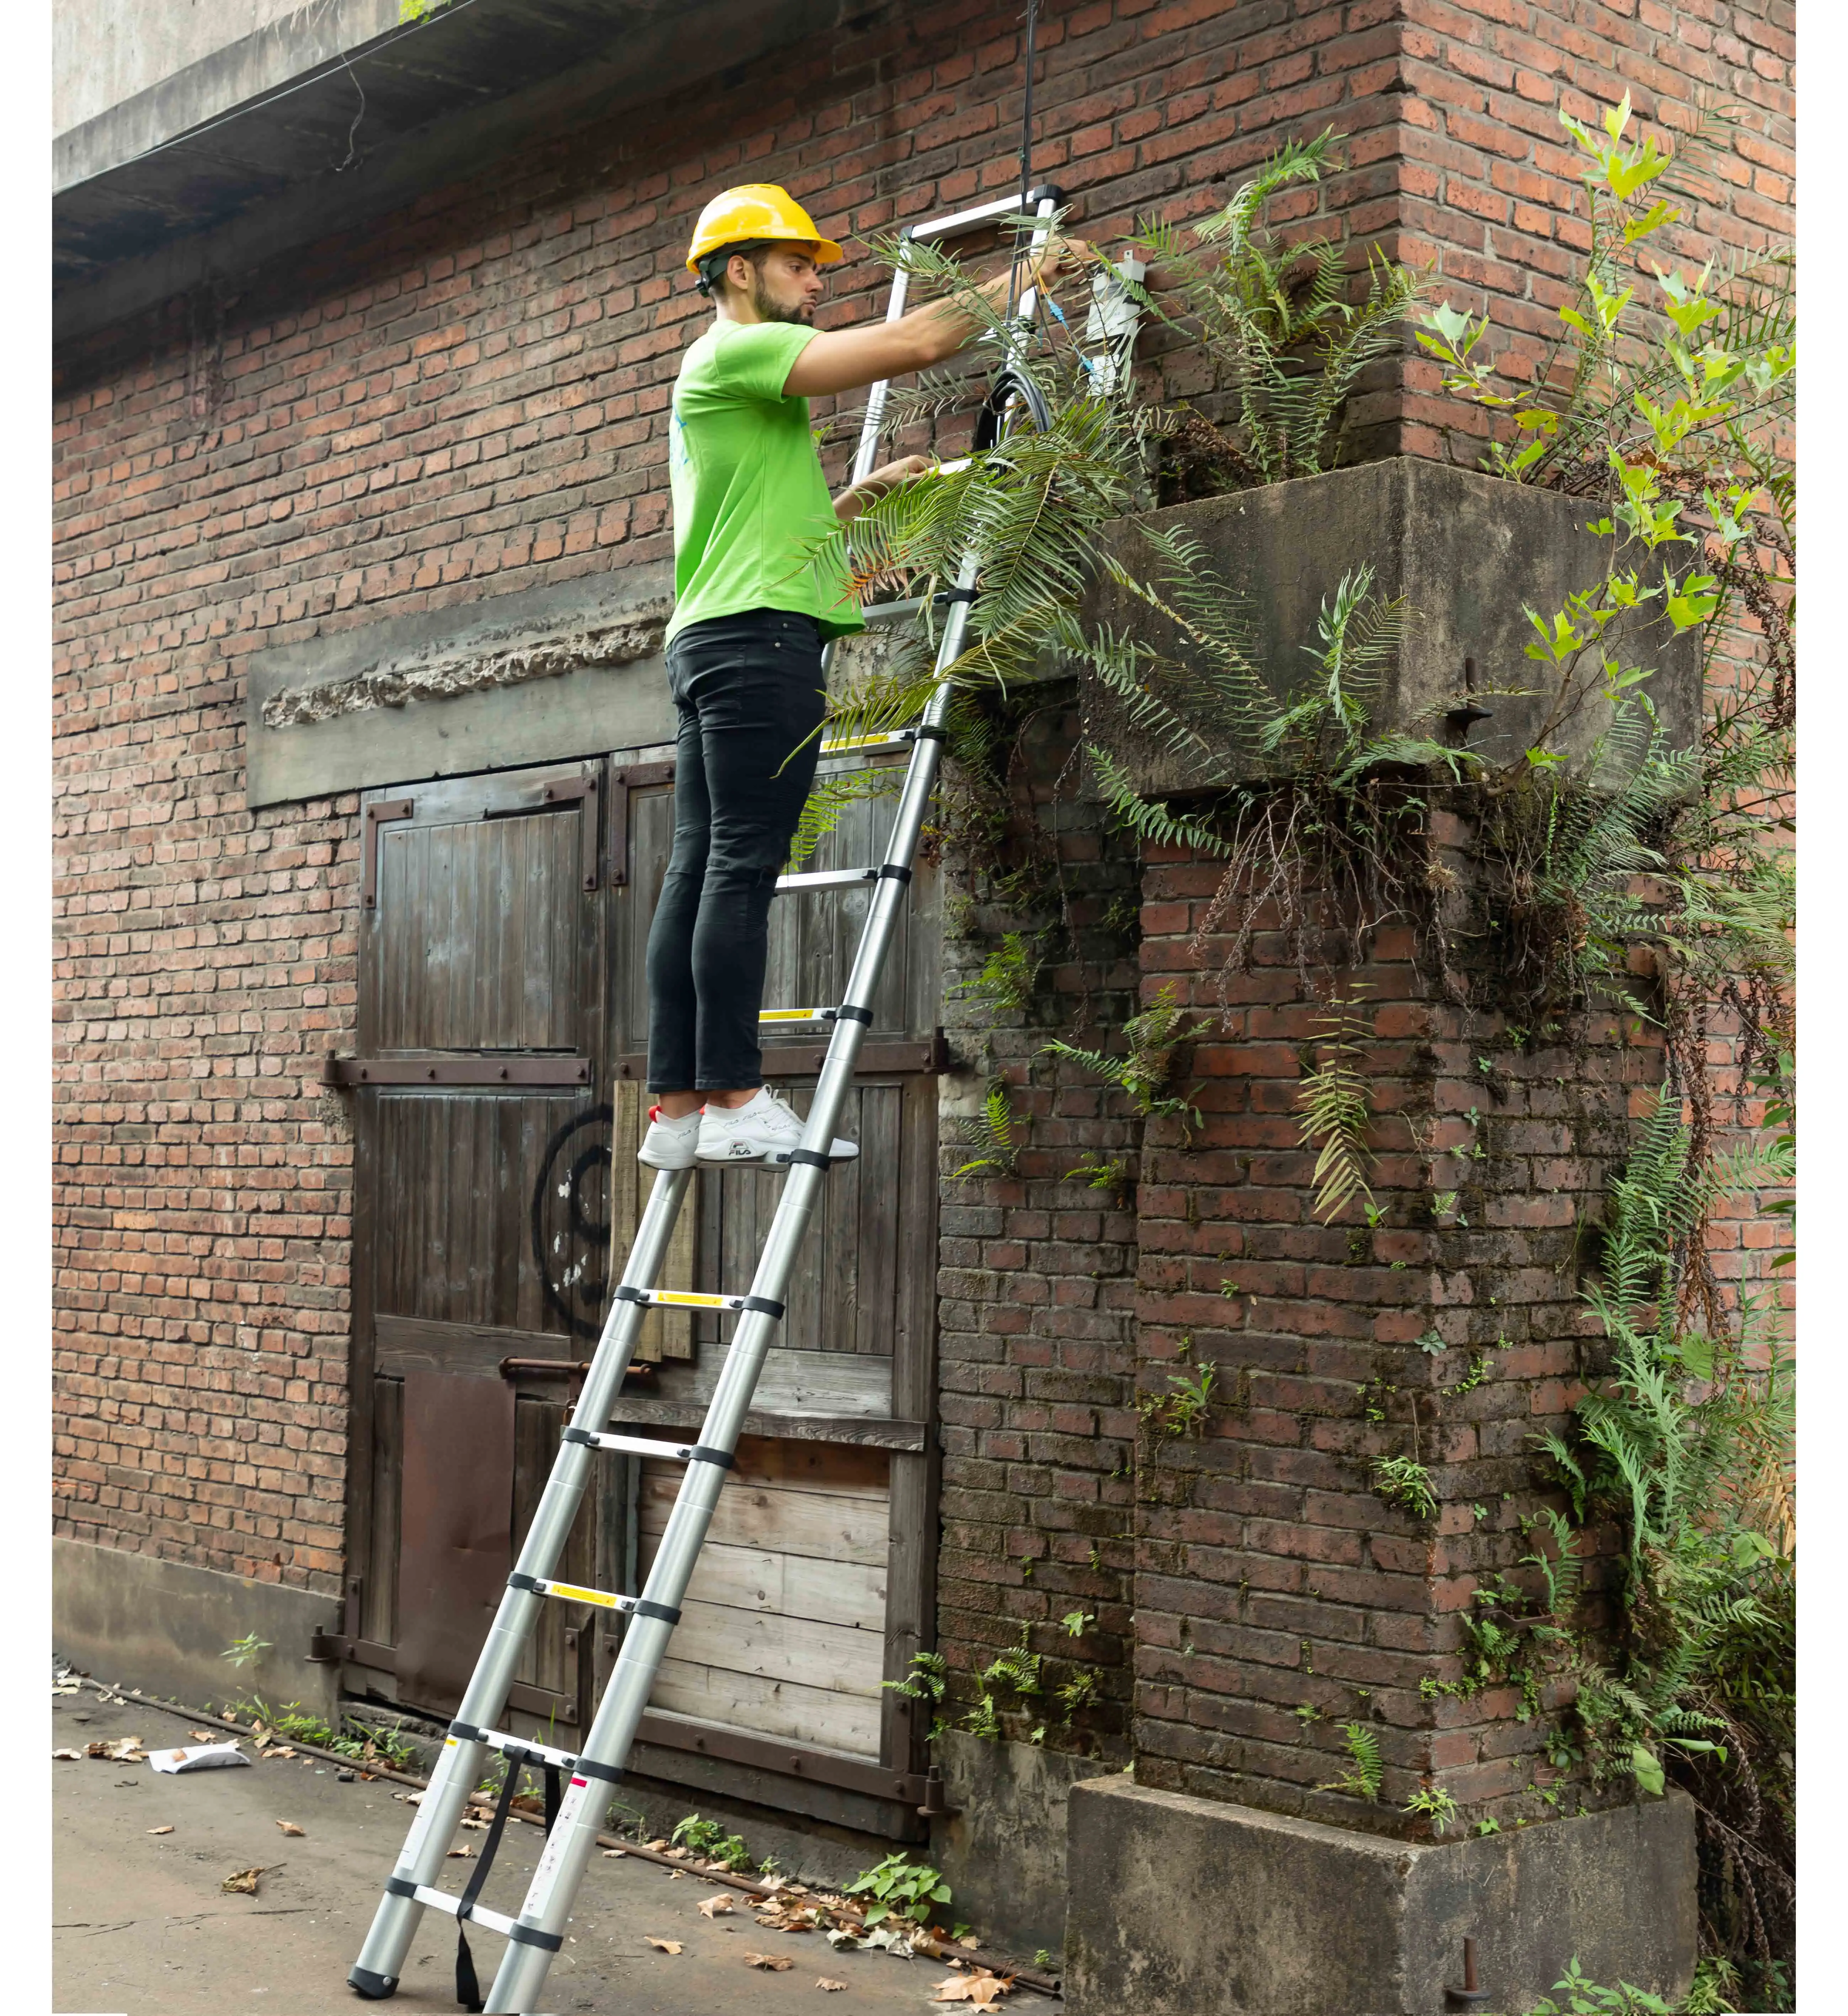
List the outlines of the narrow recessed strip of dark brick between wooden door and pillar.
{"type": "Polygon", "coordinates": [[[937,1633],[955,1710],[1028,1625],[1050,1685],[1098,1675],[1098,1706],[1066,1726],[1046,1697],[1000,1689],[1022,1738],[1054,1722],[1054,1748],[1125,1758],[1135,1631],[1135,1191],[1070,1179],[1084,1161],[1135,1165],[1141,1123],[1082,1068],[1046,1056],[1054,1036],[1106,1050],[1137,1012],[1141,871],[1096,802],[1074,802],[1076,718],[1056,687],[1016,726],[1014,818],[1000,845],[945,853],[943,1022],[969,1070],[965,1105],[1002,1081],[1018,1117],[1014,1175],[953,1171],[979,1145],[943,1129],[937,1363],[943,1542],[937,1633]],[[1002,933],[1044,960],[1014,1008],[979,984],[1002,933]],[[1096,1621],[1074,1639],[1072,1611],[1096,1621]]]}

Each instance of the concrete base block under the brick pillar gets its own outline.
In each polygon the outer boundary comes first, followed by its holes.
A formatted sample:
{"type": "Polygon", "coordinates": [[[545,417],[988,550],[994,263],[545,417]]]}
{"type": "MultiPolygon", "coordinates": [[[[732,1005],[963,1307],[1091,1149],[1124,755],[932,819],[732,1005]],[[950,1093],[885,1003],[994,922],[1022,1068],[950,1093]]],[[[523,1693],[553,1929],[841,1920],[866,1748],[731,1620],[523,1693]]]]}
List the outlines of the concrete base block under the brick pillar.
{"type": "Polygon", "coordinates": [[[1066,1810],[1070,2016],[1437,2016],[1465,1935],[1491,2008],[1574,1956],[1671,2000],[1693,1980],[1683,1792],[1429,1847],[1120,1776],[1066,1810]]]}

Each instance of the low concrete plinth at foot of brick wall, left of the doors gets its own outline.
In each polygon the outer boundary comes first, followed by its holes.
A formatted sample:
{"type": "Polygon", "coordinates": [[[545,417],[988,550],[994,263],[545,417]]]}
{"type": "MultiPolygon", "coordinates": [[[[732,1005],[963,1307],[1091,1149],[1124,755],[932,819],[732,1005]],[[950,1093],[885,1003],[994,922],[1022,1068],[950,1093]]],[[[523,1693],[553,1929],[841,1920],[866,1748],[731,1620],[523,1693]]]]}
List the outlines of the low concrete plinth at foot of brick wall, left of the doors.
{"type": "Polygon", "coordinates": [[[339,1665],[308,1659],[308,1639],[339,1629],[337,1597],[64,1536],[50,1587],[52,1645],[97,1679],[187,1708],[260,1693],[324,1720],[339,1712],[339,1665]],[[266,1653],[244,1667],[222,1657],[252,1633],[266,1653]]]}

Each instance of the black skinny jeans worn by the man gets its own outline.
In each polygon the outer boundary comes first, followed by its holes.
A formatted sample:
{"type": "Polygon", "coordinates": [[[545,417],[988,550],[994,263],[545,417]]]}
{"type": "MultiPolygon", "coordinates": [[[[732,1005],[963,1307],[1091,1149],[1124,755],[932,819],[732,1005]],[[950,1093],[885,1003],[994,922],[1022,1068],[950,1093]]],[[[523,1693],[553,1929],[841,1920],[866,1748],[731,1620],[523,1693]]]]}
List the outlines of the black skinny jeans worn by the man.
{"type": "Polygon", "coordinates": [[[820,625],[784,609],[689,623],[667,689],[679,742],[649,929],[649,1091],[746,1091],[764,1083],[770,899],[814,782],[820,625]]]}

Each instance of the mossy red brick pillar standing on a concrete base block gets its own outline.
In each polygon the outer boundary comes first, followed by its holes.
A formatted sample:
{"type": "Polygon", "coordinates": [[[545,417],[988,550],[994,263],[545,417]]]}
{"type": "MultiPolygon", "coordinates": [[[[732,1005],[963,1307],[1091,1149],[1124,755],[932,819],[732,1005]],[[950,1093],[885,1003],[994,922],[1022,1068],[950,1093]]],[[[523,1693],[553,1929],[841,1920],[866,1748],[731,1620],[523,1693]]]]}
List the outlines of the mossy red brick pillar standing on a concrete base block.
{"type": "MultiPolygon", "coordinates": [[[[1467,855],[1445,861],[1469,873],[1467,855]]],[[[1260,931],[1221,1012],[1209,974],[1229,941],[1205,939],[1205,972],[1189,943],[1219,877],[1187,859],[1145,877],[1145,996],[1173,986],[1203,1010],[1189,1077],[1205,1125],[1183,1145],[1163,1123],[1145,1147],[1137,1383],[1163,1395],[1177,1367],[1213,1365],[1217,1391],[1199,1435],[1141,1443],[1137,1780],[1391,1826],[1433,1774],[1471,1822],[1542,1818],[1532,1786],[1554,1774],[1520,1691],[1427,1697],[1421,1681],[1461,1677],[1471,1591],[1534,1550],[1517,1524],[1546,1502],[1532,1437],[1562,1425],[1596,1349],[1578,1222],[1661,1083],[1661,1046],[1612,1016],[1522,1044],[1493,1008],[1435,996],[1409,929],[1380,931],[1350,992],[1384,1216],[1324,1226],[1298,1117],[1316,1008],[1282,933],[1260,931]],[[1487,1377],[1447,1393],[1477,1351],[1487,1377]],[[1435,1520],[1372,1490],[1380,1456],[1431,1470],[1435,1520]],[[1376,1804],[1320,1790],[1350,1762],[1348,1722],[1380,1742],[1376,1804]]]]}

